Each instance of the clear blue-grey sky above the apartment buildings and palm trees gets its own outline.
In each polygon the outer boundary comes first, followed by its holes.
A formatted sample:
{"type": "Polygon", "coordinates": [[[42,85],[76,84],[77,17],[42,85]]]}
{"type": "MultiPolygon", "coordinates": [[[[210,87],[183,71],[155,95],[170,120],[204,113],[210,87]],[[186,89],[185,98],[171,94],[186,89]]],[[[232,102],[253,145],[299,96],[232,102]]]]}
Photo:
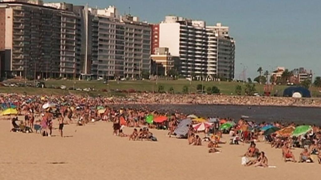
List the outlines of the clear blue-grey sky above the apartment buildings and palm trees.
{"type": "MultiPolygon", "coordinates": [[[[86,4],[88,0],[66,0],[86,4]]],[[[321,0],[91,0],[90,6],[115,5],[120,13],[139,16],[150,23],[165,15],[221,22],[236,40],[235,77],[243,65],[247,76],[256,70],[305,67],[321,76],[321,0]]]]}

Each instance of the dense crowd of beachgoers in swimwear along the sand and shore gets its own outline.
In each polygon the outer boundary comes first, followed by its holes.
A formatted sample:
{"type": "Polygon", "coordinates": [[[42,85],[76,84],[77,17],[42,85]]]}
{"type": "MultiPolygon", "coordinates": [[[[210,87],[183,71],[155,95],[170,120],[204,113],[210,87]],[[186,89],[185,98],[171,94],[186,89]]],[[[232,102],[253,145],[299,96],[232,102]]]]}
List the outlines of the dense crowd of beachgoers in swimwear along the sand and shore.
{"type": "MultiPolygon", "coordinates": [[[[166,94],[165,96],[170,96],[166,94]]],[[[192,102],[197,103],[201,100],[203,95],[198,96],[185,96],[182,95],[182,99],[190,99],[192,102]]],[[[214,96],[213,96],[214,97],[214,96]]],[[[225,98],[225,97],[224,97],[225,98]]],[[[230,96],[228,98],[232,98],[230,96]]],[[[172,101],[175,98],[164,98],[160,96],[152,97],[149,94],[142,97],[136,97],[129,100],[129,102],[149,103],[154,101],[156,103],[167,103],[165,101],[172,101]],[[156,99],[155,99],[156,98],[156,99]],[[158,98],[158,99],[157,99],[158,98]],[[144,102],[142,99],[145,99],[144,102]]],[[[179,99],[179,98],[178,98],[179,99]]],[[[246,98],[244,98],[246,99],[246,98]]],[[[271,101],[279,101],[273,99],[271,101]]],[[[215,98],[209,101],[216,101],[215,98]]],[[[289,99],[289,101],[300,101],[289,99]]],[[[303,101],[303,100],[302,100],[303,101]]],[[[304,100],[305,101],[305,100],[304,100]]],[[[110,121],[113,122],[113,134],[119,137],[126,137],[130,141],[136,140],[151,140],[157,141],[157,138],[150,132],[150,129],[166,129],[169,130],[169,137],[176,136],[174,133],[182,119],[187,119],[188,115],[175,111],[158,112],[148,110],[146,108],[112,108],[108,105],[121,103],[120,99],[113,98],[84,98],[79,96],[67,95],[67,96],[27,96],[27,95],[6,95],[0,97],[0,102],[3,107],[15,106],[18,114],[24,115],[24,121],[21,120],[17,125],[16,121],[19,121],[18,117],[12,119],[13,128],[12,131],[33,132],[34,130],[40,131],[43,136],[51,136],[53,128],[53,121],[56,120],[58,124],[59,135],[63,137],[63,128],[65,124],[75,123],[77,126],[84,126],[89,122],[94,121],[110,121]],[[48,106],[44,107],[44,104],[48,106]],[[148,123],[147,116],[152,117],[166,117],[166,120],[161,122],[148,123]],[[76,119],[76,120],[74,120],[76,119]],[[133,127],[133,132],[129,135],[123,132],[124,127],[133,127]]],[[[123,101],[125,104],[126,101],[123,101]]],[[[128,103],[128,102],[127,102],[128,103]]],[[[169,102],[171,103],[171,102],[169,102]]],[[[227,101],[227,103],[232,103],[227,101]]],[[[292,104],[293,105],[293,104],[292,104]]],[[[209,121],[211,118],[205,118],[205,121],[209,121]]],[[[219,120],[217,117],[216,119],[219,120]]],[[[253,160],[246,159],[244,165],[246,166],[260,166],[267,167],[268,160],[265,156],[265,152],[259,151],[256,146],[257,142],[266,141],[271,144],[272,148],[282,149],[282,158],[285,162],[314,162],[321,163],[321,131],[320,127],[312,126],[311,130],[307,133],[299,136],[291,135],[278,135],[276,132],[265,134],[265,130],[262,127],[272,126],[278,129],[285,127],[296,127],[294,123],[284,125],[278,122],[274,123],[255,123],[245,119],[239,119],[238,122],[233,122],[232,119],[221,119],[223,121],[217,121],[213,123],[213,126],[206,127],[204,130],[204,138],[201,138],[201,134],[197,132],[192,124],[188,125],[188,131],[186,138],[188,144],[195,146],[202,146],[207,143],[209,153],[221,152],[220,145],[222,143],[222,134],[228,134],[230,136],[230,144],[237,145],[241,143],[249,143],[249,148],[245,152],[244,157],[254,158],[253,160]],[[233,122],[229,128],[221,129],[220,126],[226,122],[233,122]],[[212,136],[209,136],[213,134],[212,136]],[[302,148],[302,152],[298,158],[295,158],[291,149],[302,148]]]]}

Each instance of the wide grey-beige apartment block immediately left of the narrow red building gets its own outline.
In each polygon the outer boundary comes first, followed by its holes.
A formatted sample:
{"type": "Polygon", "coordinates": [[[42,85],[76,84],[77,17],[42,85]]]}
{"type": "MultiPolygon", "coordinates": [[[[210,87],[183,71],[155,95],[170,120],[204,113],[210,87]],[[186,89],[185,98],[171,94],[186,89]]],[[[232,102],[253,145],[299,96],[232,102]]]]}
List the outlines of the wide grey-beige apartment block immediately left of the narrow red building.
{"type": "Polygon", "coordinates": [[[95,78],[139,78],[150,72],[151,28],[114,6],[89,8],[91,16],[91,74],[95,78]],[[97,50],[97,51],[96,51],[97,50]]]}

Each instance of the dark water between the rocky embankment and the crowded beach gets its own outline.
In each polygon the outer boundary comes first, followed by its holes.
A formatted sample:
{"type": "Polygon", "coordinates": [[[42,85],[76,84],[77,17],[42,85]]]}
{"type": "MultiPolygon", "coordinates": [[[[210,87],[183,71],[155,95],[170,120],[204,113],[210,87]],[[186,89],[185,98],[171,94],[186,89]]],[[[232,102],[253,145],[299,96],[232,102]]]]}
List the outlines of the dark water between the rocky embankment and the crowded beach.
{"type": "Polygon", "coordinates": [[[160,112],[178,110],[184,114],[202,117],[224,117],[239,119],[249,116],[250,120],[295,122],[321,126],[321,108],[276,107],[276,106],[236,106],[236,105],[116,105],[115,107],[147,108],[160,112]]]}

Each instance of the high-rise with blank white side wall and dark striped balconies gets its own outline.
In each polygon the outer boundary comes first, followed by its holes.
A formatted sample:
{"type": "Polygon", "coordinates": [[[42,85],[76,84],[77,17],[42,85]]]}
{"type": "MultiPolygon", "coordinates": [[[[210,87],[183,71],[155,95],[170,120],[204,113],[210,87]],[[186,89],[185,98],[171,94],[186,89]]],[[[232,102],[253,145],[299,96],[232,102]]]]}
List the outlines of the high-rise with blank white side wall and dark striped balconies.
{"type": "Polygon", "coordinates": [[[166,16],[159,25],[159,46],[179,57],[178,71],[186,77],[206,76],[207,34],[204,21],[166,16]]]}

